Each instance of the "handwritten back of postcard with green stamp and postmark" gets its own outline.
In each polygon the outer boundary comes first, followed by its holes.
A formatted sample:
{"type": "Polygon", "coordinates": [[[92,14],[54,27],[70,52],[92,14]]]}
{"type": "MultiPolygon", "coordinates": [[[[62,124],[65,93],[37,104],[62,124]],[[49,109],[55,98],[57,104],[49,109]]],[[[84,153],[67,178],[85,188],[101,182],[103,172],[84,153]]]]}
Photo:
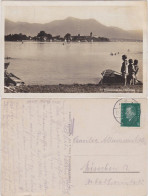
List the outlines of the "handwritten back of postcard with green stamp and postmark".
{"type": "Polygon", "coordinates": [[[3,99],[2,196],[147,195],[145,99],[3,99]]]}

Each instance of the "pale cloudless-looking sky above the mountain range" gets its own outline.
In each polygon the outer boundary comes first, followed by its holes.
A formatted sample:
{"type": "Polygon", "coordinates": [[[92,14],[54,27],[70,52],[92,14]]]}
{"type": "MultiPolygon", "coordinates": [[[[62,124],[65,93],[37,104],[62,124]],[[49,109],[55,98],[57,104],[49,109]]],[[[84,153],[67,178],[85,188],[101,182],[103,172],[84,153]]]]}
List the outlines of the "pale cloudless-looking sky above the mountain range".
{"type": "Polygon", "coordinates": [[[7,6],[5,17],[11,21],[48,23],[67,17],[80,19],[94,18],[107,26],[125,30],[142,29],[143,7],[29,7],[7,6]]]}

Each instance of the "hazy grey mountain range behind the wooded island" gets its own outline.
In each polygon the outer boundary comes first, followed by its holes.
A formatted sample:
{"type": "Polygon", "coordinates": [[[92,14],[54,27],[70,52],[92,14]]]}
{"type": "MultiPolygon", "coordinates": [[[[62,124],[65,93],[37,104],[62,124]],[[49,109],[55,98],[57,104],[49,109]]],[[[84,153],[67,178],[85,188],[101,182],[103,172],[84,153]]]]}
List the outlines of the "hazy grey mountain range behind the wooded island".
{"type": "Polygon", "coordinates": [[[66,33],[70,33],[71,35],[89,35],[90,32],[92,32],[93,35],[107,37],[114,40],[143,40],[142,30],[126,31],[118,27],[105,26],[95,19],[77,19],[68,17],[64,20],[55,20],[45,24],[12,22],[7,19],[5,21],[5,35],[22,33],[35,36],[40,31],[61,36],[64,36],[66,33]]]}

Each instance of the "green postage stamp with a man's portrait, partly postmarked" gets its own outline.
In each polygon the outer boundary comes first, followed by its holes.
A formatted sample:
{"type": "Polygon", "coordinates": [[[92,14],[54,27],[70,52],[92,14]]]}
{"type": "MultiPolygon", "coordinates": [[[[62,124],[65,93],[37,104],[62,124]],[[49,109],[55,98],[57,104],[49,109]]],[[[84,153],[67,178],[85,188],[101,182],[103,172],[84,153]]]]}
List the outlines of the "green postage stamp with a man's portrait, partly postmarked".
{"type": "Polygon", "coordinates": [[[139,103],[121,103],[121,126],[140,127],[139,103]]]}

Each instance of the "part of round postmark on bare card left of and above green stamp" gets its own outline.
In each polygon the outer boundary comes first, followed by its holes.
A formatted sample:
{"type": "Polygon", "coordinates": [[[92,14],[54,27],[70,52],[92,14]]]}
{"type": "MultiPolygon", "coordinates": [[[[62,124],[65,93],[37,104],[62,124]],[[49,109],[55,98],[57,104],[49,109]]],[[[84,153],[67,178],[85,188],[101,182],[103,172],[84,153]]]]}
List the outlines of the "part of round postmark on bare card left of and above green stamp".
{"type": "Polygon", "coordinates": [[[113,107],[113,116],[115,120],[121,124],[121,104],[122,103],[138,103],[135,99],[127,99],[127,98],[122,98],[116,101],[114,107],[113,107]]]}

